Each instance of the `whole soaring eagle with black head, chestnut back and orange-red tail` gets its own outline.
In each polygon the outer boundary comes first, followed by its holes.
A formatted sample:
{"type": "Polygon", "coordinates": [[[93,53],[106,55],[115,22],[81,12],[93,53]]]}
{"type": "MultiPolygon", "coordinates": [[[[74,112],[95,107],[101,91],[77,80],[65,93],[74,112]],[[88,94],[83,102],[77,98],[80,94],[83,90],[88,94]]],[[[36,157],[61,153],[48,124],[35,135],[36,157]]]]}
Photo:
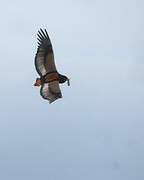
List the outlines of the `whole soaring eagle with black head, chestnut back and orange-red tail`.
{"type": "Polygon", "coordinates": [[[58,73],[55,65],[54,52],[51,40],[46,29],[40,29],[37,33],[38,48],[35,55],[35,68],[39,74],[34,86],[41,86],[40,95],[49,103],[62,98],[59,84],[67,81],[67,76],[58,73]]]}

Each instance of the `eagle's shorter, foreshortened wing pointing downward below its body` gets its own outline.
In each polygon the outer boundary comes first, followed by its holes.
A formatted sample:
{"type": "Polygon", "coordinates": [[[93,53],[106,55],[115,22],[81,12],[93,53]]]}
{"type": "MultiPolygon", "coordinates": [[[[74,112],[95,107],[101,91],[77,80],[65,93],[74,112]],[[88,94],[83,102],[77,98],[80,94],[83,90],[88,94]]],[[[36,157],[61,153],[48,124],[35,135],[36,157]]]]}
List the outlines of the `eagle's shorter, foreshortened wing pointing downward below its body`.
{"type": "Polygon", "coordinates": [[[44,99],[47,99],[49,103],[62,98],[59,82],[53,81],[50,83],[44,83],[41,87],[40,94],[44,99]]]}

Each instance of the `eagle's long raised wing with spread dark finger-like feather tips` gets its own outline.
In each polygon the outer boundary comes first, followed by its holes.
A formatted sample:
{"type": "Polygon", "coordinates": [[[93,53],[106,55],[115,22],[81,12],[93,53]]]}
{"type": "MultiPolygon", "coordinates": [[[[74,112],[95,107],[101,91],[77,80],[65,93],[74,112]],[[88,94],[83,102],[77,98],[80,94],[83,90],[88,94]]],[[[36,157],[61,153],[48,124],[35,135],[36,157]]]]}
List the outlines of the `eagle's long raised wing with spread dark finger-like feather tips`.
{"type": "Polygon", "coordinates": [[[35,67],[40,76],[56,71],[52,44],[46,29],[38,31],[38,49],[35,56],[35,67]]]}

